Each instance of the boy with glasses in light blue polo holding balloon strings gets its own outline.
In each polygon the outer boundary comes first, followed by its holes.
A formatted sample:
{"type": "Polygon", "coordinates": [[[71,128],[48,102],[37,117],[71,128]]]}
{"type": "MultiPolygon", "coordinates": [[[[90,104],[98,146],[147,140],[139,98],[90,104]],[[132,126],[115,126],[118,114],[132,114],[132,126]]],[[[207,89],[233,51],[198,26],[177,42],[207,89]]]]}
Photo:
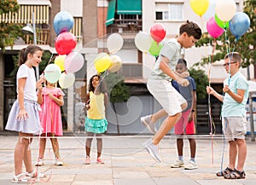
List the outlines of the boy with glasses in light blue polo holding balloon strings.
{"type": "Polygon", "coordinates": [[[224,80],[224,95],[218,94],[212,87],[207,86],[207,93],[223,101],[222,123],[223,132],[230,144],[229,165],[217,176],[226,179],[245,178],[243,166],[247,156],[245,135],[247,132],[246,103],[248,99],[247,79],[239,72],[241,56],[232,52],[224,57],[224,67],[229,77],[224,80]],[[237,157],[237,165],[236,165],[237,157]]]}

